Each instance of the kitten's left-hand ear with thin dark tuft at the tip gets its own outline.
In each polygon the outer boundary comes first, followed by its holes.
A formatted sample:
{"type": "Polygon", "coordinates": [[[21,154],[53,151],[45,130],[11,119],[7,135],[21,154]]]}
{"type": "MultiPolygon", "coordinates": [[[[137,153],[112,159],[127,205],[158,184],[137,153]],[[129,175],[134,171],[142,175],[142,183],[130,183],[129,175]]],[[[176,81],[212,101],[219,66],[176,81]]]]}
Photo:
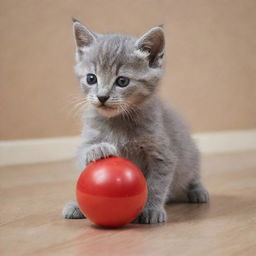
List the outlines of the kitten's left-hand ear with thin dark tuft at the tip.
{"type": "Polygon", "coordinates": [[[72,18],[72,21],[77,52],[82,55],[86,47],[89,47],[97,40],[97,35],[82,25],[79,20],[72,18]]]}

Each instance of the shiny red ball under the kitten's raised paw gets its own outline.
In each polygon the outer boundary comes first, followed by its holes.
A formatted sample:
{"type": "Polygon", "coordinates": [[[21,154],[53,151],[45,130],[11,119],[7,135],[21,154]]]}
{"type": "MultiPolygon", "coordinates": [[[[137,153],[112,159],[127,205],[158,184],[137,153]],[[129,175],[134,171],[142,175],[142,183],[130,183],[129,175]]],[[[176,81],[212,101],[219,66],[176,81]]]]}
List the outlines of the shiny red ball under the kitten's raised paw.
{"type": "Polygon", "coordinates": [[[147,183],[141,170],[121,157],[90,163],[81,173],[76,188],[83,214],[105,227],[131,222],[147,200],[147,183]]]}

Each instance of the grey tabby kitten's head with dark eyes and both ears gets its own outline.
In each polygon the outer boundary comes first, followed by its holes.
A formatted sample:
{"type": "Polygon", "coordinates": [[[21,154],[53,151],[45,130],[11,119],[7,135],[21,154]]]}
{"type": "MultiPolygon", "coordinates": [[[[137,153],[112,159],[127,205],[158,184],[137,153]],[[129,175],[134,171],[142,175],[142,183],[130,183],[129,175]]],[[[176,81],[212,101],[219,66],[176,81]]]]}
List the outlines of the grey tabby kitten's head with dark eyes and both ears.
{"type": "Polygon", "coordinates": [[[96,34],[74,20],[75,72],[87,101],[106,117],[130,112],[152,96],[162,75],[164,33],[96,34]]]}

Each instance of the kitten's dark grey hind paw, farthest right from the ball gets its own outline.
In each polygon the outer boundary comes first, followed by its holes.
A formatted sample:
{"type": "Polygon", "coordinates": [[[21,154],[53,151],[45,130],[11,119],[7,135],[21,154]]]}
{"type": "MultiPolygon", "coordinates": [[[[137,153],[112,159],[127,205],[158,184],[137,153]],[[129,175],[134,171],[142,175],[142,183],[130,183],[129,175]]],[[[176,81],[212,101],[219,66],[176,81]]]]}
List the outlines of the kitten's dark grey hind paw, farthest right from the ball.
{"type": "Polygon", "coordinates": [[[189,184],[187,196],[190,203],[207,203],[210,199],[208,191],[198,180],[189,184]]]}

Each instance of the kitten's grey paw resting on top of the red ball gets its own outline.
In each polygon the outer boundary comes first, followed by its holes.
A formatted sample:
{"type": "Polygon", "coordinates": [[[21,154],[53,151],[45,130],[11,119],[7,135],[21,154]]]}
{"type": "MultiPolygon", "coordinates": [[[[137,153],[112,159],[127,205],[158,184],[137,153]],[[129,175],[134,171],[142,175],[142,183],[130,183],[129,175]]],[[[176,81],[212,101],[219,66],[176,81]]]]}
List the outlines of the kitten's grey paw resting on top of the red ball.
{"type": "Polygon", "coordinates": [[[117,149],[114,145],[102,142],[96,145],[93,145],[89,148],[87,154],[86,154],[86,164],[89,164],[90,162],[94,162],[101,158],[107,158],[110,156],[116,156],[117,149]]]}

